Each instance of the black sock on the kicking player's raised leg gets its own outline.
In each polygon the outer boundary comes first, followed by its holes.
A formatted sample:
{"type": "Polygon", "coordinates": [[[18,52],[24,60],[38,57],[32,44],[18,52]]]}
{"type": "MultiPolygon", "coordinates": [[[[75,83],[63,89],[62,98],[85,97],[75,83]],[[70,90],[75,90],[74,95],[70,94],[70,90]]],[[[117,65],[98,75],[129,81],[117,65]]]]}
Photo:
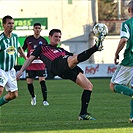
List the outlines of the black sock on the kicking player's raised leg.
{"type": "Polygon", "coordinates": [[[96,45],[93,46],[92,48],[83,51],[82,53],[80,53],[77,57],[78,62],[83,62],[86,61],[87,59],[89,59],[91,57],[91,55],[93,53],[95,53],[97,51],[97,47],[96,45]]]}

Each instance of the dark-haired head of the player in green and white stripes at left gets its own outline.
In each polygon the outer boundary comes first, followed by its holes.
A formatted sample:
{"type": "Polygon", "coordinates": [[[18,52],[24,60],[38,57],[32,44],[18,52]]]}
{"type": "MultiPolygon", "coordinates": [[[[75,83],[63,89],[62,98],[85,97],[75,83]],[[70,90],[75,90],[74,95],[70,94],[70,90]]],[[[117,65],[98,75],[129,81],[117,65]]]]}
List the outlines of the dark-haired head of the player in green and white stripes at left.
{"type": "Polygon", "coordinates": [[[4,16],[2,19],[3,27],[5,32],[12,32],[14,28],[14,20],[11,16],[4,16]]]}

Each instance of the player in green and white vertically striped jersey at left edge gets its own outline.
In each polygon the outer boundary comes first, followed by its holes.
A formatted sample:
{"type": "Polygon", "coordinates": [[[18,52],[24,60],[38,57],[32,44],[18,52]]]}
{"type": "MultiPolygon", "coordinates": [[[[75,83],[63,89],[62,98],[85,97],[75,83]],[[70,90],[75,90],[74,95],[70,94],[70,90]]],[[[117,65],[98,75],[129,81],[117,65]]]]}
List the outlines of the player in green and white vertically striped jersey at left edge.
{"type": "Polygon", "coordinates": [[[4,88],[8,93],[0,98],[0,106],[18,96],[16,71],[14,65],[18,52],[26,59],[24,51],[18,42],[18,36],[12,33],[14,20],[7,15],[2,19],[4,32],[0,34],[0,96],[4,88]]]}

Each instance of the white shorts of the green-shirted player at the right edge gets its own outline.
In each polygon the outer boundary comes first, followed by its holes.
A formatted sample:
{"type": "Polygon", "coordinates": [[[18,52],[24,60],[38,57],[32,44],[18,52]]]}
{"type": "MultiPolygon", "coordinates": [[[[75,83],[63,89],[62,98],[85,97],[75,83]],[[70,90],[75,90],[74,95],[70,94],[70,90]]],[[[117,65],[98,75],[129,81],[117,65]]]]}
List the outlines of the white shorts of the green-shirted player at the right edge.
{"type": "Polygon", "coordinates": [[[119,65],[111,78],[111,83],[131,85],[132,76],[133,67],[119,65]]]}

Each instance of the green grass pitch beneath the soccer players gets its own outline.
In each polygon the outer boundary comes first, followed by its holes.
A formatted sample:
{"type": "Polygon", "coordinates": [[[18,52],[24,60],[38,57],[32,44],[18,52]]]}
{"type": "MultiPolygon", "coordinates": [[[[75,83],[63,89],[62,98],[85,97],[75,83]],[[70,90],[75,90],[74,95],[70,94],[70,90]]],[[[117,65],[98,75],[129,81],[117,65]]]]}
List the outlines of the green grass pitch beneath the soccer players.
{"type": "MultiPolygon", "coordinates": [[[[38,80],[37,105],[30,105],[25,80],[18,81],[19,97],[0,109],[1,133],[133,133],[128,123],[130,98],[112,93],[110,79],[91,79],[94,85],[89,112],[97,120],[79,121],[82,88],[69,80],[47,80],[48,101],[43,106],[38,80]]],[[[5,92],[4,92],[5,93],[5,92]]]]}

